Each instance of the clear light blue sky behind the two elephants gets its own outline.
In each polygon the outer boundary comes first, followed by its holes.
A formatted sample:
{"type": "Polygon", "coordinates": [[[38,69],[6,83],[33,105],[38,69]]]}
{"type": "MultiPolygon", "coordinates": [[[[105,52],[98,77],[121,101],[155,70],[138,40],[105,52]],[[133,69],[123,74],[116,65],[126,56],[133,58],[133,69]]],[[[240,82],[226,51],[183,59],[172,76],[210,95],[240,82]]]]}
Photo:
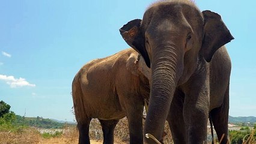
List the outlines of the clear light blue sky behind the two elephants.
{"type": "MultiPolygon", "coordinates": [[[[86,62],[129,47],[118,31],[148,1],[0,1],[0,100],[18,115],[73,121],[71,84],[86,62]]],[[[235,40],[230,115],[256,116],[256,2],[195,0],[221,14],[235,40]]]]}

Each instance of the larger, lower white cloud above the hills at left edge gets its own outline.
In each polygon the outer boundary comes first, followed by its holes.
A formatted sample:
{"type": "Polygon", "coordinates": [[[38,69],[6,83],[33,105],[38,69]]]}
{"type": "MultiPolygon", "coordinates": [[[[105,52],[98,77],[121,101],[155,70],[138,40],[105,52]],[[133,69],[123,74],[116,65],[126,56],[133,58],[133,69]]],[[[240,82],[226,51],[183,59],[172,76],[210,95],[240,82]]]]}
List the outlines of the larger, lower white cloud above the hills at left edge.
{"type": "Polygon", "coordinates": [[[22,77],[20,77],[19,79],[15,79],[14,76],[5,76],[0,74],[0,80],[4,80],[8,85],[10,85],[11,88],[17,88],[22,86],[35,86],[35,84],[27,82],[22,77]]]}

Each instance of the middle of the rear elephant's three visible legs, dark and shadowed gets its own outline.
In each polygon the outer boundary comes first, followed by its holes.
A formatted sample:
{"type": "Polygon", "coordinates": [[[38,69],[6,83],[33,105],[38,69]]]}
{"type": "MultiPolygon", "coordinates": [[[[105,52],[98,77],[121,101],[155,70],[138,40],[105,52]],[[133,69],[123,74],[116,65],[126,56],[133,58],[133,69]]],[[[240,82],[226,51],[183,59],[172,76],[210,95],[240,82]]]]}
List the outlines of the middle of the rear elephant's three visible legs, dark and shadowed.
{"type": "Polygon", "coordinates": [[[114,143],[114,130],[115,125],[117,125],[119,120],[102,120],[99,119],[102,125],[103,131],[103,144],[113,144],[114,143]]]}

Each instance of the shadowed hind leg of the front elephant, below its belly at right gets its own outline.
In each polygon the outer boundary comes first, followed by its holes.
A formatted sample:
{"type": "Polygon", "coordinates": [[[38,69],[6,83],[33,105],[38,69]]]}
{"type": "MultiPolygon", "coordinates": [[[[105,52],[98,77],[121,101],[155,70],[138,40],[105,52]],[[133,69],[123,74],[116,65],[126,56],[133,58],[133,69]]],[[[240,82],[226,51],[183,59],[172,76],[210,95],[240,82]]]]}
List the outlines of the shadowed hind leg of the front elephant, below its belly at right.
{"type": "MultiPolygon", "coordinates": [[[[229,87],[229,86],[228,86],[229,87]]],[[[213,125],[220,143],[229,143],[228,140],[228,110],[229,110],[229,88],[225,92],[224,103],[221,107],[211,110],[213,125]]]]}

